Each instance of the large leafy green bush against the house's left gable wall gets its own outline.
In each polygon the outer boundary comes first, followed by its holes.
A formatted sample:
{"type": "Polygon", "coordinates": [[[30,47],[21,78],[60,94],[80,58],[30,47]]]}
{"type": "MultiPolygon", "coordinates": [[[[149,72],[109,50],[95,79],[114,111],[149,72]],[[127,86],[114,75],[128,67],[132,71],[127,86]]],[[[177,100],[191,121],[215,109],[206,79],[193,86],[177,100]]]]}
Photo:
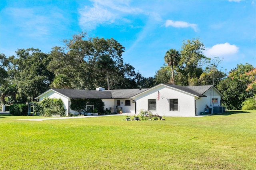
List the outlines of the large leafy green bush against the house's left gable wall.
{"type": "Polygon", "coordinates": [[[66,115],[64,103],[61,99],[44,98],[42,101],[34,104],[34,115],[51,117],[53,115],[66,115]]]}

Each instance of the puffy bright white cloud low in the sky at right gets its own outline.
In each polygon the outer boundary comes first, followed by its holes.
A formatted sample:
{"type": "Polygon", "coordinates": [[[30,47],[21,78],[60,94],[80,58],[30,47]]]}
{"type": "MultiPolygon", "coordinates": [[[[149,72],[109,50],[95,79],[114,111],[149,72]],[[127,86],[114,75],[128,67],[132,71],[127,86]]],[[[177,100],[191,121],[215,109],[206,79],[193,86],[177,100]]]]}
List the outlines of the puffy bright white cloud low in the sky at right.
{"type": "Polygon", "coordinates": [[[229,56],[235,53],[238,53],[239,47],[236,45],[230,45],[230,43],[220,43],[213,45],[212,47],[208,47],[204,51],[204,55],[206,57],[220,57],[220,56],[229,56]]]}

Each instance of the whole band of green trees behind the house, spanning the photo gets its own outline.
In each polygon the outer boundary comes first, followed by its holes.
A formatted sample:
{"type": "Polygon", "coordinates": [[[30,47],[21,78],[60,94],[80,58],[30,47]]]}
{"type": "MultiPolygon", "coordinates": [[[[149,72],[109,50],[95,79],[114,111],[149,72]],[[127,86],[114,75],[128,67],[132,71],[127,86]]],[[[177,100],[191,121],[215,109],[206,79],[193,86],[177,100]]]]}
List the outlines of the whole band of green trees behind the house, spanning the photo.
{"type": "Polygon", "coordinates": [[[63,47],[52,47],[49,53],[29,48],[18,49],[15,56],[0,54],[1,103],[34,101],[49,88],[134,89],[173,83],[215,85],[228,109],[240,109],[246,103],[254,106],[250,102],[256,96],[256,68],[239,64],[227,76],[218,69],[218,58],[203,55],[205,47],[198,38],[184,40],[180,51],[166,51],[166,64],[154,77],[144,77],[125,63],[125,47],[114,38],[92,38],[82,32],[63,42],[63,47]]]}

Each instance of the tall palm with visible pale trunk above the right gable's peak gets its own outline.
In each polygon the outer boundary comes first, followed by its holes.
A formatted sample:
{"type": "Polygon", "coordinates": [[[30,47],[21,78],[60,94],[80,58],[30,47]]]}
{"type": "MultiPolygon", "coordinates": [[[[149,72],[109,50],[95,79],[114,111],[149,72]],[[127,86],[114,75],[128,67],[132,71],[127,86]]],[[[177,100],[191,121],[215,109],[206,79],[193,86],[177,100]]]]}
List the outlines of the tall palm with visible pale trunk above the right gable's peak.
{"type": "Polygon", "coordinates": [[[165,63],[172,67],[172,77],[170,77],[170,83],[174,84],[174,71],[173,66],[177,66],[180,62],[180,53],[176,49],[169,49],[164,56],[165,63]]]}

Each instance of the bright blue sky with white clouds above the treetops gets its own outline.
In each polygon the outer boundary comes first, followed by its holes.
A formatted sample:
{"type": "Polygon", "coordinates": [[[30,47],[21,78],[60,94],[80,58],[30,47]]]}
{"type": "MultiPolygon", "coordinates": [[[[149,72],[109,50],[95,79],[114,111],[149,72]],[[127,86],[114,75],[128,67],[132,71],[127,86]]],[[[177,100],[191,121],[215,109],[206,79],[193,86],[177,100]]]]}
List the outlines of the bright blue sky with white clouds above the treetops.
{"type": "Polygon", "coordinates": [[[0,53],[38,48],[49,53],[79,32],[114,38],[130,63],[145,77],[164,65],[168,49],[199,38],[206,57],[220,57],[218,69],[237,64],[256,67],[256,2],[190,1],[0,1],[0,53]]]}

